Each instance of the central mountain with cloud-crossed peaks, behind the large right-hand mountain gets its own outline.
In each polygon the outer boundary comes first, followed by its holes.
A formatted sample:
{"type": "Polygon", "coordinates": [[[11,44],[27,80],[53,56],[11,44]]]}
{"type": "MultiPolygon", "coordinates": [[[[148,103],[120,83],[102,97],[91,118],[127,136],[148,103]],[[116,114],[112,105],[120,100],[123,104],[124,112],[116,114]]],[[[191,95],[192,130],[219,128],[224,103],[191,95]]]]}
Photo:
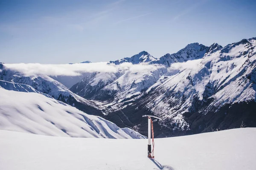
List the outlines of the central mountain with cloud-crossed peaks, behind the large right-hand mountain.
{"type": "Polygon", "coordinates": [[[142,71],[124,71],[119,70],[117,73],[93,73],[83,80],[73,85],[71,91],[86,99],[108,100],[109,105],[116,102],[127,101],[131,97],[138,96],[143,91],[154,85],[158,79],[164,74],[168,74],[167,67],[175,62],[186,62],[192,59],[201,59],[204,54],[211,54],[213,51],[222,48],[217,43],[210,47],[199,43],[187,45],[175,54],[166,54],[160,59],[152,57],[148,52],[142,51],[132,57],[108,62],[108,64],[119,65],[123,62],[131,62],[132,64],[151,64],[162,65],[157,69],[142,71]],[[146,60],[144,60],[146,59],[146,60]],[[114,101],[112,101],[114,100],[114,101]]]}

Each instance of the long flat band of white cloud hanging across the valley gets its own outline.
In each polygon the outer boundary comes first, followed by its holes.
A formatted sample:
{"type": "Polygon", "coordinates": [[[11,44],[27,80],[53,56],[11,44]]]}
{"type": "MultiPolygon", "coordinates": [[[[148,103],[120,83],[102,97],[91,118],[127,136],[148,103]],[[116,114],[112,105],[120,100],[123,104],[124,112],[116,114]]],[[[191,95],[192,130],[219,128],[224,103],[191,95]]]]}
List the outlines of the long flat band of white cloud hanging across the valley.
{"type": "Polygon", "coordinates": [[[129,62],[120,65],[107,65],[107,62],[95,62],[84,64],[39,64],[39,63],[17,63],[4,64],[6,68],[18,71],[25,76],[79,76],[82,73],[92,72],[117,72],[118,70],[127,70],[131,72],[154,71],[164,68],[163,65],[137,64],[129,62]]]}

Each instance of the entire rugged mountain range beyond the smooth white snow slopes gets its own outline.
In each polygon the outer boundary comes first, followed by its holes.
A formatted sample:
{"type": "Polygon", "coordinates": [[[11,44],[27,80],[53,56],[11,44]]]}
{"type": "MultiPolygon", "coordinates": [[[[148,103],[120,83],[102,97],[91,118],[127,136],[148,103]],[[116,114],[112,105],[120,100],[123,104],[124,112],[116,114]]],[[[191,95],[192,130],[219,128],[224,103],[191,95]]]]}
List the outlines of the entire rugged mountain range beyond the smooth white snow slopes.
{"type": "MultiPolygon", "coordinates": [[[[116,71],[83,72],[79,76],[26,76],[0,63],[0,79],[143,135],[147,134],[147,120],[142,118],[145,114],[162,119],[154,120],[156,137],[241,124],[256,127],[255,47],[256,38],[250,38],[225,47],[192,43],[159,59],[142,51],[106,63],[116,71]],[[125,64],[133,67],[120,67],[125,64]]],[[[86,67],[90,63],[81,64],[86,67]]],[[[1,83],[2,88],[14,90],[1,83]]]]}

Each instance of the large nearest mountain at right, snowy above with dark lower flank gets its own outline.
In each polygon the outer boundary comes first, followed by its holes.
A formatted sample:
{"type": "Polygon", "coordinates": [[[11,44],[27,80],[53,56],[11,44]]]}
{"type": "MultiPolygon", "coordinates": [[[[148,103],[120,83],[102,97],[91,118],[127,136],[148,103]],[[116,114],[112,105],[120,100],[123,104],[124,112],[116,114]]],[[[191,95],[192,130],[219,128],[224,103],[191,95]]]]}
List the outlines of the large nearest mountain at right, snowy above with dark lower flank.
{"type": "Polygon", "coordinates": [[[188,62],[195,67],[177,64],[178,74],[160,79],[137,102],[172,130],[206,132],[239,127],[243,121],[255,126],[255,47],[255,38],[242,40],[188,62]]]}

